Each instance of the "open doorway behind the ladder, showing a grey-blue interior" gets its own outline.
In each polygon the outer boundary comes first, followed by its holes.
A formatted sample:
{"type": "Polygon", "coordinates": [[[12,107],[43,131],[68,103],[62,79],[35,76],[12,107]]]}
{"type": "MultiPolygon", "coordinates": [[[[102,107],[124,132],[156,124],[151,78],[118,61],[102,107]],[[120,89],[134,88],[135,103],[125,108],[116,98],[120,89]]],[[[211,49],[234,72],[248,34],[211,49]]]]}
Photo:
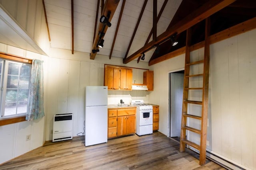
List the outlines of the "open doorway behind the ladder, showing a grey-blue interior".
{"type": "Polygon", "coordinates": [[[184,69],[169,73],[170,138],[180,142],[184,69]]]}

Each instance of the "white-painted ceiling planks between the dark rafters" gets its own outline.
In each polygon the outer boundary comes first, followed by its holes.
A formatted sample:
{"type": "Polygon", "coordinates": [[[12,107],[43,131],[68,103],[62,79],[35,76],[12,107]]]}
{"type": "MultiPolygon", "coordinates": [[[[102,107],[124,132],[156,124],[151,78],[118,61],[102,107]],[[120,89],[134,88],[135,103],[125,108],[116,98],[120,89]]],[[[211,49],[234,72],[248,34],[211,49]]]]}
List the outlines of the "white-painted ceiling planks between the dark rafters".
{"type": "MultiPolygon", "coordinates": [[[[168,27],[182,0],[168,0],[162,16],[157,24],[157,35],[168,27]]],[[[52,48],[72,49],[71,29],[71,0],[44,0],[46,15],[50,31],[52,48]]],[[[98,54],[109,56],[116,31],[122,0],[111,20],[112,26],[104,36],[104,47],[98,54]]],[[[120,22],[112,57],[124,58],[134,28],[138,21],[144,0],[126,0],[122,20],[120,22]]],[[[157,13],[160,11],[164,0],[157,1],[157,13]]],[[[96,18],[97,0],[74,0],[74,51],[90,53],[92,50],[94,24],[96,18]]],[[[100,7],[101,9],[101,7],[100,7]]],[[[98,15],[98,22],[100,14],[98,15]]],[[[142,19],[136,31],[128,56],[144,46],[152,29],[153,0],[148,0],[142,19]]],[[[151,41],[151,39],[150,39],[151,41]]],[[[144,61],[149,61],[154,49],[148,51],[144,61]]],[[[127,57],[128,57],[127,56],[127,57]]],[[[97,56],[96,56],[97,57],[97,56]]]]}

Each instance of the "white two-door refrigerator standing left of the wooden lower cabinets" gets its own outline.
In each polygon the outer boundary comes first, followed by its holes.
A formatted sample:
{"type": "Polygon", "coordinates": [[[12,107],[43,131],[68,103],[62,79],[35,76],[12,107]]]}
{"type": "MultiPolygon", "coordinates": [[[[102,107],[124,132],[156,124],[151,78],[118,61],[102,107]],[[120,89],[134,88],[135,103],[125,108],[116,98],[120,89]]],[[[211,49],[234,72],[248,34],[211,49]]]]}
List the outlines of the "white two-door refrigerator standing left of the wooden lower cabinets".
{"type": "Polygon", "coordinates": [[[108,86],[85,87],[85,146],[108,141],[108,86]]]}

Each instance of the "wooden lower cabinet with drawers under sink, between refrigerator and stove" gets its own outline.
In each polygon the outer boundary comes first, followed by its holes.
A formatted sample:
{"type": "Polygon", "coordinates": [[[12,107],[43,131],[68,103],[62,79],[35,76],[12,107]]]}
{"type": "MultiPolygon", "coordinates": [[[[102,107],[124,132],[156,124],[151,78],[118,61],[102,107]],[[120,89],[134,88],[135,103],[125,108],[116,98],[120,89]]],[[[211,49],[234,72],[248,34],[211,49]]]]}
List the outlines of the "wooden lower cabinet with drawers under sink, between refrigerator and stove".
{"type": "Polygon", "coordinates": [[[108,110],[108,138],[135,133],[136,107],[108,110]]]}

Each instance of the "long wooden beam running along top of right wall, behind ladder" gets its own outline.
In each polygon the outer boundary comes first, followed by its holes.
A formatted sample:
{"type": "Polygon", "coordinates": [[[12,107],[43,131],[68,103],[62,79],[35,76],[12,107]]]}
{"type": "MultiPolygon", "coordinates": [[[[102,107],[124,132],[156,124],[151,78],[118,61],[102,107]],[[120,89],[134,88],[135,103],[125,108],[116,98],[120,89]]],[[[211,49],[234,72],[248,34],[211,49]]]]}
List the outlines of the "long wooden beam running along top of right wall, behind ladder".
{"type": "MultiPolygon", "coordinates": [[[[230,27],[228,29],[225,29],[223,31],[220,31],[214,35],[210,35],[209,36],[209,43],[210,44],[213,44],[213,43],[217,43],[219,41],[222,41],[224,39],[228,39],[230,37],[233,37],[233,36],[236,36],[238,34],[241,34],[241,33],[245,33],[247,31],[250,31],[252,29],[256,29],[256,17],[250,19],[250,20],[247,20],[247,21],[244,21],[242,23],[239,23],[233,27],[230,27]]],[[[200,43],[196,43],[195,45],[192,45],[190,47],[190,51],[194,51],[194,50],[197,50],[197,49],[200,49],[202,47],[204,47],[204,41],[201,41],[200,43]]],[[[177,49],[175,51],[172,51],[166,55],[163,55],[161,57],[158,57],[156,59],[153,59],[152,61],[150,61],[148,63],[149,66],[153,65],[153,64],[156,64],[156,63],[160,63],[162,61],[165,61],[165,60],[168,60],[168,59],[171,59],[173,57],[176,57],[178,55],[182,55],[185,53],[185,47],[182,47],[180,49],[177,49]]]]}

